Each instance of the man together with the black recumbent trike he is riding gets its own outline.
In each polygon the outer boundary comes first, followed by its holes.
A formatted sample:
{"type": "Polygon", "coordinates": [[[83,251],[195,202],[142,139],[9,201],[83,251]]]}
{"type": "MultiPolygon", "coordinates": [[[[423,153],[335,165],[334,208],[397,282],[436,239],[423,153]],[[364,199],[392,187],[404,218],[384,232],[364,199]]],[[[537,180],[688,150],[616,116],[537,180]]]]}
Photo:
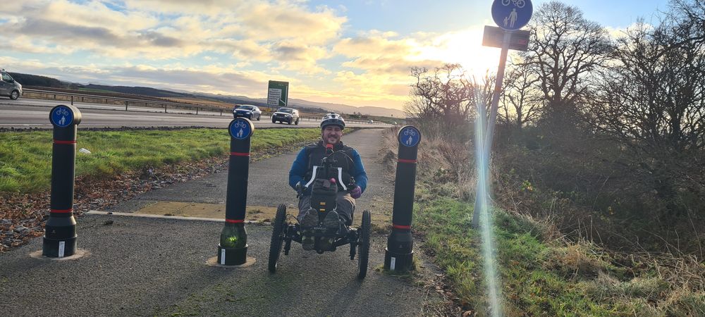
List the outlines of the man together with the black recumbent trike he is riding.
{"type": "MultiPolygon", "coordinates": [[[[289,222],[286,205],[279,205],[269,247],[269,271],[276,271],[281,249],[288,255],[291,242],[319,254],[350,244],[350,259],[357,254],[357,276],[367,274],[371,216],[362,213],[360,228],[351,227],[355,199],[367,187],[367,173],[360,154],[343,145],[345,121],[330,113],[321,120],[321,141],[300,151],[289,172],[289,184],[296,189],[299,213],[289,222]],[[355,182],[357,181],[357,183],[355,182]]],[[[291,216],[293,218],[293,216],[291,216]]]]}

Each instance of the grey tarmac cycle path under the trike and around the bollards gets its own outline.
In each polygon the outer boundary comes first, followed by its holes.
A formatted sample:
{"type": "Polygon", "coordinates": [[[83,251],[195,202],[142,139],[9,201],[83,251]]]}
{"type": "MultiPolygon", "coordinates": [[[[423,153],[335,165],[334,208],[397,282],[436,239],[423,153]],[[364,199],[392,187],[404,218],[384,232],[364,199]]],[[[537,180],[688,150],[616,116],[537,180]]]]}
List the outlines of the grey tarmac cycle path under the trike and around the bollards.
{"type": "MultiPolygon", "coordinates": [[[[360,151],[370,176],[357,201],[358,219],[362,209],[393,196],[376,160],[380,135],[379,129],[365,129],[343,137],[360,151]]],[[[248,205],[295,204],[286,184],[293,156],[250,164],[248,205]]],[[[114,210],[133,212],[165,199],[224,201],[225,180],[226,173],[218,173],[157,189],[114,210]]],[[[0,256],[0,311],[6,316],[419,316],[424,304],[441,300],[410,280],[376,271],[384,263],[384,234],[372,235],[367,278],[359,281],[347,246],[316,254],[293,243],[290,254],[281,255],[277,273],[270,274],[269,225],[247,225],[252,266],[208,266],[222,228],[222,222],[205,220],[83,216],[78,247],[89,254],[80,259],[31,258],[42,249],[41,238],[0,256]]],[[[415,259],[424,263],[418,252],[415,259]]],[[[425,267],[422,274],[431,268],[425,267]]]]}

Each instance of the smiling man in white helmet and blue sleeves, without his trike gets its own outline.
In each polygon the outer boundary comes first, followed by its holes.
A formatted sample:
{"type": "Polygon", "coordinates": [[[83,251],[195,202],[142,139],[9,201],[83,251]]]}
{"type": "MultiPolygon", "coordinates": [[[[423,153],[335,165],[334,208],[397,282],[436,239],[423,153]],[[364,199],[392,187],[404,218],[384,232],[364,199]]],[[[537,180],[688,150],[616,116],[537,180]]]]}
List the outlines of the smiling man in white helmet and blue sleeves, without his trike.
{"type": "MultiPolygon", "coordinates": [[[[341,115],[329,113],[324,116],[321,120],[321,140],[301,149],[289,170],[289,185],[294,189],[297,184],[309,186],[314,177],[325,180],[335,179],[335,185],[338,186],[337,212],[330,211],[323,220],[323,225],[330,230],[345,228],[345,225],[353,223],[355,199],[360,198],[367,187],[367,173],[364,171],[360,154],[341,141],[343,129],[345,129],[345,120],[341,115]],[[321,159],[324,157],[333,162],[331,167],[335,173],[322,175],[320,170],[317,170],[314,175],[314,166],[321,166],[321,159]],[[350,185],[350,178],[355,180],[353,185],[350,185]]],[[[314,227],[318,224],[317,212],[311,208],[311,189],[307,188],[299,199],[297,219],[302,228],[314,227]]],[[[309,232],[302,230],[301,244],[304,249],[311,250],[314,248],[314,238],[307,233],[309,232]]],[[[332,244],[333,238],[321,239],[321,249],[331,249],[332,244]]]]}

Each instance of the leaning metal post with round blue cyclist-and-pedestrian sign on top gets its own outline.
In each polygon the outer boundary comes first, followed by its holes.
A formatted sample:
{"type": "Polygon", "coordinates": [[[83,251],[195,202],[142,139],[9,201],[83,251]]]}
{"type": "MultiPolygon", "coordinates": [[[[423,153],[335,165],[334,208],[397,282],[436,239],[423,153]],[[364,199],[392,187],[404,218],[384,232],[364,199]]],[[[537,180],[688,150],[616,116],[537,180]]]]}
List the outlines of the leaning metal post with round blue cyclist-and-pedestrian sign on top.
{"type": "MultiPolygon", "coordinates": [[[[492,151],[492,139],[494,138],[494,125],[497,120],[499,97],[502,92],[502,82],[504,80],[504,68],[507,63],[507,54],[510,49],[510,44],[512,43],[512,35],[515,30],[519,30],[529,23],[533,10],[534,6],[532,5],[531,0],[494,0],[492,3],[492,19],[505,31],[502,39],[502,52],[499,58],[499,66],[497,68],[497,78],[494,83],[494,94],[492,95],[492,103],[490,106],[490,114],[485,131],[485,138],[484,141],[482,141],[482,144],[479,144],[479,149],[482,149],[482,158],[480,158],[479,164],[484,164],[485,166],[479,168],[478,171],[489,171],[489,158],[490,152],[492,151]]],[[[485,31],[487,32],[487,29],[485,29],[485,31]]],[[[527,42],[527,45],[528,44],[529,43],[527,42]]],[[[481,199],[478,199],[477,197],[484,197],[484,195],[489,194],[489,192],[486,192],[484,188],[479,186],[479,182],[481,181],[480,178],[486,179],[487,177],[488,175],[478,176],[478,186],[475,194],[475,207],[472,213],[473,228],[478,228],[479,226],[481,199]]]]}

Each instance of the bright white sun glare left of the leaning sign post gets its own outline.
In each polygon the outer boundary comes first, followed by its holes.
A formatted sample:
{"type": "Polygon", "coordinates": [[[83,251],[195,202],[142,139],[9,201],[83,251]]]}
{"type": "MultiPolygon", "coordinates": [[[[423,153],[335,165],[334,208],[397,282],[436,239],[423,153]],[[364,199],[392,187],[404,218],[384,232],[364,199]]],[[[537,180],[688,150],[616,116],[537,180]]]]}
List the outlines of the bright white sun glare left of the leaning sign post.
{"type": "Polygon", "coordinates": [[[420,58],[459,63],[467,75],[482,80],[486,72],[494,74],[499,64],[500,49],[482,46],[482,28],[447,33],[422,48],[420,58]]]}

